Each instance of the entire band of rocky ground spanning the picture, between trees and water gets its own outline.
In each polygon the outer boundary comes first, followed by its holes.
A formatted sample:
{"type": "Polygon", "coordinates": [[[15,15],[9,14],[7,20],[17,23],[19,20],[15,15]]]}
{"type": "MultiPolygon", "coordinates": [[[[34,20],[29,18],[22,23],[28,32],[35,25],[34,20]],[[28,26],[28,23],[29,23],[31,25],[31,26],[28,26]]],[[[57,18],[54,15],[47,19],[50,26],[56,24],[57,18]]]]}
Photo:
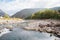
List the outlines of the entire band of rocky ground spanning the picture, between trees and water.
{"type": "Polygon", "coordinates": [[[9,31],[14,28],[23,28],[27,31],[47,32],[51,34],[50,36],[54,35],[60,38],[59,20],[1,20],[0,30],[4,28],[9,29],[9,31]]]}

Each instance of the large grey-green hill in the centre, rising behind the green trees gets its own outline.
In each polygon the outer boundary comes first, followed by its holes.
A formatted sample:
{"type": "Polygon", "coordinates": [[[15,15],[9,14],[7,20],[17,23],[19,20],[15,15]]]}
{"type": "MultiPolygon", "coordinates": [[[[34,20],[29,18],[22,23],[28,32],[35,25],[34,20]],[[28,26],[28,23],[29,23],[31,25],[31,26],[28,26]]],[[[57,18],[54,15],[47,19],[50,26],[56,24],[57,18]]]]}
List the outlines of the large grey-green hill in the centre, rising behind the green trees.
{"type": "Polygon", "coordinates": [[[17,12],[16,14],[14,14],[12,17],[26,18],[39,10],[42,10],[42,8],[23,9],[23,10],[17,12]]]}

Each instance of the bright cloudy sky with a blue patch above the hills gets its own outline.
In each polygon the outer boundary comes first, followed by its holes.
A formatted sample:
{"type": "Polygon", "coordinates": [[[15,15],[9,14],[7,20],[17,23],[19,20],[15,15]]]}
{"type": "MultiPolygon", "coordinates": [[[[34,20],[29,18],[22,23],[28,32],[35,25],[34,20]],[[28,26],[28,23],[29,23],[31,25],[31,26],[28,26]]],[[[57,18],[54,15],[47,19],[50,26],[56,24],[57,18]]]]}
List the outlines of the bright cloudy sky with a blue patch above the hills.
{"type": "Polygon", "coordinates": [[[0,9],[10,15],[26,8],[52,8],[59,6],[60,0],[0,0],[0,9]]]}

